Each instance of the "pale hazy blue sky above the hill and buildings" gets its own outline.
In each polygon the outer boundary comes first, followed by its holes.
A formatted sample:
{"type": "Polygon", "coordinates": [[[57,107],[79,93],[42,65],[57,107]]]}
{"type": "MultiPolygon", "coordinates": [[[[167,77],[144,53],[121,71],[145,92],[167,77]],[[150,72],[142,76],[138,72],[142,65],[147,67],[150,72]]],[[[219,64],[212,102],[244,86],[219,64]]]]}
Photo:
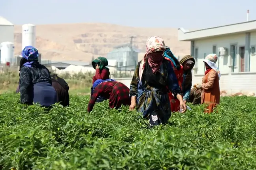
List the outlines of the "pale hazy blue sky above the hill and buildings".
{"type": "Polygon", "coordinates": [[[13,24],[105,22],[136,27],[209,28],[256,19],[255,0],[0,0],[13,24]]]}

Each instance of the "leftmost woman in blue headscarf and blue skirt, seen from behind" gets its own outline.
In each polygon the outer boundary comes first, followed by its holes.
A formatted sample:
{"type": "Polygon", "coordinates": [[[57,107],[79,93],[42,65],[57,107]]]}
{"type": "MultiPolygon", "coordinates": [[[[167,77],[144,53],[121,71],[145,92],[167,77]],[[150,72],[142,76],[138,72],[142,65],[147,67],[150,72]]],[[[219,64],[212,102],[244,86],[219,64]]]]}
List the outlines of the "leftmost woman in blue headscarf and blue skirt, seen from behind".
{"type": "Polygon", "coordinates": [[[57,101],[57,95],[52,86],[49,70],[38,62],[38,50],[26,46],[21,55],[19,73],[21,103],[32,105],[34,102],[46,107],[53,105],[57,101]]]}

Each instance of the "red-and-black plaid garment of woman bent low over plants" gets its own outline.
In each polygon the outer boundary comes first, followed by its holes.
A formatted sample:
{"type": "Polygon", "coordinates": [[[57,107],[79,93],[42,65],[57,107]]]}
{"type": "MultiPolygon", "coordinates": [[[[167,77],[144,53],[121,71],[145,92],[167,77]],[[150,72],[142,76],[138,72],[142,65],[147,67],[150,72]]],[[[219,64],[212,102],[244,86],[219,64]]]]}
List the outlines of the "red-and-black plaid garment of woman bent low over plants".
{"type": "Polygon", "coordinates": [[[118,109],[121,105],[130,105],[129,88],[112,79],[103,80],[95,87],[88,104],[88,112],[92,111],[98,96],[109,99],[110,108],[118,109]]]}

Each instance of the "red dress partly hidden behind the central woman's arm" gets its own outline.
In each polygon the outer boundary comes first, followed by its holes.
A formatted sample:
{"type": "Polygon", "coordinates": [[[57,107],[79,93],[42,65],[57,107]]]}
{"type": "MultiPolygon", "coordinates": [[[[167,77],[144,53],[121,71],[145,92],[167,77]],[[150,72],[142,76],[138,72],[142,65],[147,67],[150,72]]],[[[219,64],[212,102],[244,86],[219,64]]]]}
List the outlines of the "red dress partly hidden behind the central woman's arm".
{"type": "MultiPolygon", "coordinates": [[[[173,62],[165,57],[166,60],[171,62],[171,65],[173,67],[173,71],[177,77],[178,80],[178,84],[182,90],[182,83],[183,83],[183,66],[181,65],[181,69],[177,70],[177,68],[175,67],[175,65],[173,64],[173,62]]],[[[174,99],[174,96],[172,95],[171,92],[168,93],[169,96],[169,100],[170,100],[170,104],[171,104],[171,112],[179,112],[180,109],[180,103],[178,99],[174,99]]]]}

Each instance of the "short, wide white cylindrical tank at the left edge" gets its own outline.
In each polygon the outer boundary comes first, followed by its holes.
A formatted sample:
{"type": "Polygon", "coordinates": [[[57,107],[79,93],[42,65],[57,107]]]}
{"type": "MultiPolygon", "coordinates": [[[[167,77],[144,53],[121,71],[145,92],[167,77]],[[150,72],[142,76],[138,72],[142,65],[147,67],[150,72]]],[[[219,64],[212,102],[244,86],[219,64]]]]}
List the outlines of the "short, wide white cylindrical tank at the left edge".
{"type": "Polygon", "coordinates": [[[14,44],[11,42],[2,42],[0,45],[0,63],[14,62],[14,44]]]}

